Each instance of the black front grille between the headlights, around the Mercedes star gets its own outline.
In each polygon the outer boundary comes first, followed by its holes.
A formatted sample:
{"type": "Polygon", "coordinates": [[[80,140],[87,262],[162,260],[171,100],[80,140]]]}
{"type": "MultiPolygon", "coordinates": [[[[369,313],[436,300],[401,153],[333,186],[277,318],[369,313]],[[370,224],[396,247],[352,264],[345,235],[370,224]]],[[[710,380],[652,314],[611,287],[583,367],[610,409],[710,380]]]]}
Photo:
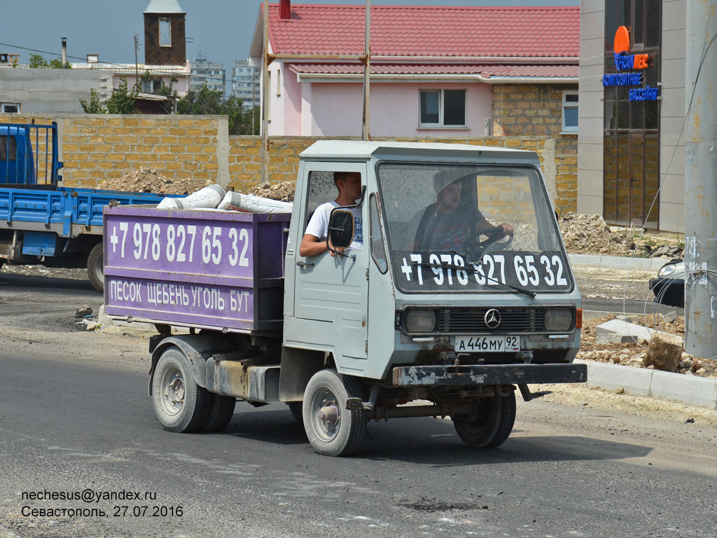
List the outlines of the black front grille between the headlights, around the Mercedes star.
{"type": "Polygon", "coordinates": [[[438,332],[444,334],[535,333],[543,332],[543,308],[497,308],[500,325],[485,325],[490,308],[441,308],[438,311],[438,332]]]}

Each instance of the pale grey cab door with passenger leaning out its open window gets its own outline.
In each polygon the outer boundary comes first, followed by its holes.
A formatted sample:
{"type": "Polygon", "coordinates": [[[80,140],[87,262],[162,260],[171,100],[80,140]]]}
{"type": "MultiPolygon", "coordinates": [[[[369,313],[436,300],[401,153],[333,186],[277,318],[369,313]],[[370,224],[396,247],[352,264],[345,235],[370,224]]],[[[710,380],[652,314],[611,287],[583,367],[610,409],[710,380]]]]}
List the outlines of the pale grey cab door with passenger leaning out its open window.
{"type": "MultiPolygon", "coordinates": [[[[299,240],[316,207],[336,199],[335,171],[357,171],[366,185],[366,163],[305,163],[308,189],[303,197],[305,222],[299,240]]],[[[356,237],[363,237],[364,223],[368,222],[366,204],[361,214],[363,223],[356,237]]],[[[329,351],[339,371],[360,374],[368,347],[370,256],[366,248],[347,249],[345,253],[331,256],[326,252],[305,258],[296,246],[294,319],[285,339],[309,349],[329,351]]]]}

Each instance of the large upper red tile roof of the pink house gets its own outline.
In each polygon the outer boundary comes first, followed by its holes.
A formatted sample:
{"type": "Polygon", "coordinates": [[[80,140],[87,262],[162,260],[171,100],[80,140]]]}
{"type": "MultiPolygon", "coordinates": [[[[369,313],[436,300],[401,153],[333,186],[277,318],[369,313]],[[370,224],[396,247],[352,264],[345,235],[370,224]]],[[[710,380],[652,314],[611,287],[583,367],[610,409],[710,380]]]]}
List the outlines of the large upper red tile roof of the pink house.
{"type": "MultiPolygon", "coordinates": [[[[263,4],[262,4],[263,6],[263,4]]],[[[364,54],[365,6],[269,6],[275,54],[364,54]]],[[[566,57],[580,54],[579,7],[371,6],[371,55],[566,57]]],[[[500,60],[499,60],[500,61],[500,60]]]]}

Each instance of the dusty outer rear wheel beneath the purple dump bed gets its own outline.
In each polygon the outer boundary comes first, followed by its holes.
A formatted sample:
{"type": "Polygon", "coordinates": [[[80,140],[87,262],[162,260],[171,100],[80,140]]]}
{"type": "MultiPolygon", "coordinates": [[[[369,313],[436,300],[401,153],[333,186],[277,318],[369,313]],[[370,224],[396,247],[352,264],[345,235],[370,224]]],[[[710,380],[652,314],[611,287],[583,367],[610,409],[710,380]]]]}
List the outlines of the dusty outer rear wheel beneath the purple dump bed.
{"type": "Polygon", "coordinates": [[[189,360],[179,348],[167,348],[154,370],[154,412],[165,430],[191,433],[207,424],[212,395],[194,381],[189,360]]]}

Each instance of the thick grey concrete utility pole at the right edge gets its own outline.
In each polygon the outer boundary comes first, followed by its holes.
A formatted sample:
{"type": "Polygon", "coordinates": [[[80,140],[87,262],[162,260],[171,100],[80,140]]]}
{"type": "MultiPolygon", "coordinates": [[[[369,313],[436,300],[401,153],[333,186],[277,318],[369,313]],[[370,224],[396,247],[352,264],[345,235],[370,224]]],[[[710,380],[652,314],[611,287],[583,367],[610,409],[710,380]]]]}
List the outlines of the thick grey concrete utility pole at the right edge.
{"type": "Polygon", "coordinates": [[[717,356],[717,16],[688,1],[685,55],[685,351],[717,356]]]}

